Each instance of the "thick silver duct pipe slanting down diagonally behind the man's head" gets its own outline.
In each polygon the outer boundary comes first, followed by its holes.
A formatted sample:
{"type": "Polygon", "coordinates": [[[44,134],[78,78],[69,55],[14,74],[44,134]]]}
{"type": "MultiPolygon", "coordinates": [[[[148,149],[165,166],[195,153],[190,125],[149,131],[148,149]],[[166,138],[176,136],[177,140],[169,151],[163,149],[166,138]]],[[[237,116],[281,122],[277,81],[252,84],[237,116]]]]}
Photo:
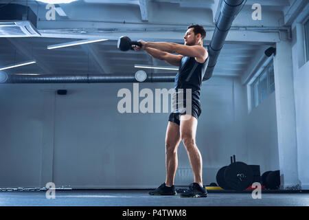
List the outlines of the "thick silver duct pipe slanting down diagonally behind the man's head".
{"type": "Polygon", "coordinates": [[[218,56],[225,43],[225,39],[227,38],[227,33],[231,28],[231,24],[245,2],[245,0],[222,0],[214,35],[212,36],[208,47],[209,63],[203,81],[211,78],[218,56]]]}

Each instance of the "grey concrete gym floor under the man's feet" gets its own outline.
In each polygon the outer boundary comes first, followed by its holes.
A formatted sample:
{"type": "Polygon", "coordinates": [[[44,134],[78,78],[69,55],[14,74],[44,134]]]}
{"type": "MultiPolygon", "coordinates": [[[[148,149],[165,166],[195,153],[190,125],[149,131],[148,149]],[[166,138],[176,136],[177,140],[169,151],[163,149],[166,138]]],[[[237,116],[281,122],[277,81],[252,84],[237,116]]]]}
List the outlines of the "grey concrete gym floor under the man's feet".
{"type": "Polygon", "coordinates": [[[45,191],[0,192],[0,206],[309,206],[309,193],[209,193],[207,198],[150,196],[148,190],[59,190],[56,199],[45,191]]]}

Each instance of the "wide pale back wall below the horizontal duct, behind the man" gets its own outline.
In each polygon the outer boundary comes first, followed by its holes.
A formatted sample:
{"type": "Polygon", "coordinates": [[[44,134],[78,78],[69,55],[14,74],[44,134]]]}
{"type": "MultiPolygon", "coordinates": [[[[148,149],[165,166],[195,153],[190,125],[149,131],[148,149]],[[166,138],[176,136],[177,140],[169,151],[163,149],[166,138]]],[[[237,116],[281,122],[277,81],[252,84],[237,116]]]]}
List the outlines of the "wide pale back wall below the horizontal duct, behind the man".
{"type": "MultiPolygon", "coordinates": [[[[172,83],[144,83],[139,91],[144,87],[155,91],[172,83]]],[[[121,88],[133,91],[132,84],[0,85],[0,187],[54,181],[73,188],[148,188],[163,182],[168,113],[119,113],[121,88]]],[[[242,90],[239,79],[203,83],[196,142],[204,184],[216,181],[230,155],[248,162],[242,90]]],[[[175,184],[192,181],[181,143],[175,184]]]]}

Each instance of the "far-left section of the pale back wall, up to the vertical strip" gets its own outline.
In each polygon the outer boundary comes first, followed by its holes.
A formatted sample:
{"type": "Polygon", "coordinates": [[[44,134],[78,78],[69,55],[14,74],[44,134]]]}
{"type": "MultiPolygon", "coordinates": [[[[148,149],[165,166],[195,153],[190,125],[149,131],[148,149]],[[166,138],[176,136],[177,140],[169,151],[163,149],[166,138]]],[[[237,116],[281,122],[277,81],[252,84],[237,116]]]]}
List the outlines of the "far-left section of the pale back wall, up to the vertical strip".
{"type": "Polygon", "coordinates": [[[0,186],[36,187],[41,177],[43,96],[9,87],[0,85],[0,186]]]}

